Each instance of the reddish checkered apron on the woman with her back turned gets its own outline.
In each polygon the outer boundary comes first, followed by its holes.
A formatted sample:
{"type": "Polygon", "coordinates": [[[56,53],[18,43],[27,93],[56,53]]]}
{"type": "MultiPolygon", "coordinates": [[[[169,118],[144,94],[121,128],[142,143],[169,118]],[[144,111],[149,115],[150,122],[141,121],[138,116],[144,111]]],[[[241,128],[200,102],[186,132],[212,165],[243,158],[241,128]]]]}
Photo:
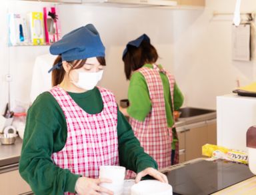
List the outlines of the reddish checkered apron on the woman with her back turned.
{"type": "MultiPolygon", "coordinates": [[[[172,104],[175,79],[164,69],[159,69],[157,65],[153,65],[153,69],[143,67],[137,71],[145,77],[152,108],[143,122],[132,117],[129,118],[129,122],[145,152],[157,161],[159,168],[165,168],[171,166],[172,128],[175,128],[175,125],[170,128],[167,124],[163,83],[159,73],[165,73],[169,79],[172,104]]],[[[127,178],[133,176],[135,173],[129,170],[127,178]]]]}

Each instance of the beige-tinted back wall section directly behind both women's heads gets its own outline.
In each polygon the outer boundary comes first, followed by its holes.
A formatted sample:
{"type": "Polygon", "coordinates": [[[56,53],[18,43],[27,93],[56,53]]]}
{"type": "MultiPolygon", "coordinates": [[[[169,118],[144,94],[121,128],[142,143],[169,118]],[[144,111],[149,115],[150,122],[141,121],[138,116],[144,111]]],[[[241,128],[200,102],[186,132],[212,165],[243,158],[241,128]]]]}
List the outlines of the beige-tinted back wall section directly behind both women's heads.
{"type": "Polygon", "coordinates": [[[157,48],[159,63],[173,68],[173,11],[150,8],[122,8],[93,5],[61,5],[63,32],[93,23],[106,47],[107,68],[100,83],[111,89],[119,101],[127,98],[123,50],[128,41],[147,33],[157,48]],[[65,14],[76,13],[76,14],[65,14]],[[100,13],[100,14],[99,14],[100,13]]]}

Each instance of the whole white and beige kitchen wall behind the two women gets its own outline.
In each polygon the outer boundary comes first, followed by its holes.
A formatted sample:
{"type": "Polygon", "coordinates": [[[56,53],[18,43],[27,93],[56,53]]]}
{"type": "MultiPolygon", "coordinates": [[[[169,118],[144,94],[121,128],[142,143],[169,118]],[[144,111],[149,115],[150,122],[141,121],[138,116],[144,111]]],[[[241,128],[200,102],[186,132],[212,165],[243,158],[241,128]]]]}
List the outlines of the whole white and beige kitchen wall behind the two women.
{"type": "MultiPolygon", "coordinates": [[[[10,9],[37,11],[44,3],[5,0],[1,2],[0,29],[7,29],[10,9]]],[[[159,8],[122,8],[99,5],[58,5],[62,32],[93,23],[106,46],[107,69],[101,85],[111,89],[117,101],[127,97],[121,55],[127,41],[142,33],[151,37],[162,63],[171,71],[185,94],[185,106],[215,108],[215,97],[231,93],[238,78],[241,85],[255,79],[255,64],[231,60],[232,16],[213,17],[213,11],[232,13],[235,0],[206,0],[205,9],[173,10],[159,8]]],[[[243,0],[242,12],[256,9],[255,0],[243,0]]],[[[11,67],[13,102],[28,104],[33,63],[37,55],[48,53],[48,46],[7,47],[7,31],[0,36],[0,111],[7,102],[4,76],[11,67]]]]}

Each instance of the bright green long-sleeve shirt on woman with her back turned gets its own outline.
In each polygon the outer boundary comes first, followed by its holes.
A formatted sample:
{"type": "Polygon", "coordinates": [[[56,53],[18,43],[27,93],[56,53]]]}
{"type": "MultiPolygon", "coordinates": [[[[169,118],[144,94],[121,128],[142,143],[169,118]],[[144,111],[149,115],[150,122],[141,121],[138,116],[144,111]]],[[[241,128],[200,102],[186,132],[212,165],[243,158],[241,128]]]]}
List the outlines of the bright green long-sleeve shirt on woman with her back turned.
{"type": "MultiPolygon", "coordinates": [[[[153,69],[153,65],[146,64],[143,67],[147,67],[149,69],[153,69]]],[[[161,67],[161,65],[160,65],[161,67]]],[[[169,127],[173,126],[173,108],[171,102],[171,92],[169,87],[169,80],[164,73],[160,73],[161,81],[163,83],[163,95],[165,98],[165,114],[167,118],[167,124],[169,127]]],[[[130,105],[127,108],[127,112],[129,116],[139,120],[144,121],[147,114],[149,114],[152,103],[151,98],[149,97],[149,89],[147,87],[147,81],[145,77],[139,73],[135,72],[131,75],[129,90],[128,90],[128,99],[130,105]]],[[[174,110],[178,110],[183,104],[184,97],[175,83],[173,89],[173,105],[174,110]]],[[[174,129],[175,130],[175,129],[174,129]]],[[[177,142],[177,138],[173,137],[172,148],[175,149],[175,142],[177,142]]]]}

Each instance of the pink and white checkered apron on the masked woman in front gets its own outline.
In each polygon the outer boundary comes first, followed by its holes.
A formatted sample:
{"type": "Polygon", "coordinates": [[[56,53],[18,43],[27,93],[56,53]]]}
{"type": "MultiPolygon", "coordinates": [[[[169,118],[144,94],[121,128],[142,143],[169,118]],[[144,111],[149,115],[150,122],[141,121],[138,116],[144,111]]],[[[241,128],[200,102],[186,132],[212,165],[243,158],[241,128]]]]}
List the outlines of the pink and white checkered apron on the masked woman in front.
{"type": "MultiPolygon", "coordinates": [[[[67,140],[59,152],[52,154],[53,162],[73,174],[99,177],[99,166],[119,165],[117,139],[117,104],[106,89],[99,88],[103,110],[98,114],[85,112],[61,87],[53,87],[55,97],[67,121],[67,140]]],[[[73,194],[66,192],[65,194],[73,194]]]]}

